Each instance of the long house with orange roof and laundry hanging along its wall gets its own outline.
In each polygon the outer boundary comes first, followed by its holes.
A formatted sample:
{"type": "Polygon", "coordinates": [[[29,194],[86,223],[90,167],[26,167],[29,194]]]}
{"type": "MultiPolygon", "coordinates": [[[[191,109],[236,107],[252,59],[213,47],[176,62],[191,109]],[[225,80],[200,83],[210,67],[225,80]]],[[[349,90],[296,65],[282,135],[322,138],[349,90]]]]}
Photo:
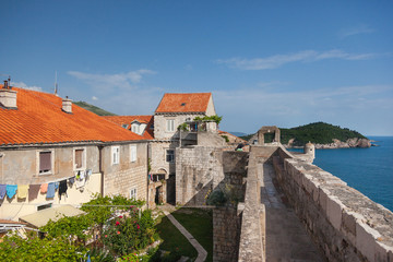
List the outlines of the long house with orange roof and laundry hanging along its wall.
{"type": "Polygon", "coordinates": [[[146,141],[71,99],[5,82],[0,85],[0,218],[75,206],[94,193],[146,200],[146,141]]]}

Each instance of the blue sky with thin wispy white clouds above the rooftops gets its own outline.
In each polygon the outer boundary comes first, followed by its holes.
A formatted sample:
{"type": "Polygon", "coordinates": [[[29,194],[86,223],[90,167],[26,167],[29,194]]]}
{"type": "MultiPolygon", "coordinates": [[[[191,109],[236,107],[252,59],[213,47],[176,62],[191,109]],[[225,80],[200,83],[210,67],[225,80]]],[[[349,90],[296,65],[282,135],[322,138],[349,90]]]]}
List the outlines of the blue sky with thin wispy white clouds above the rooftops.
{"type": "MultiPolygon", "coordinates": [[[[8,1],[0,74],[118,115],[212,92],[222,130],[393,135],[392,1],[8,1]]],[[[2,79],[5,76],[0,75],[2,79]]]]}

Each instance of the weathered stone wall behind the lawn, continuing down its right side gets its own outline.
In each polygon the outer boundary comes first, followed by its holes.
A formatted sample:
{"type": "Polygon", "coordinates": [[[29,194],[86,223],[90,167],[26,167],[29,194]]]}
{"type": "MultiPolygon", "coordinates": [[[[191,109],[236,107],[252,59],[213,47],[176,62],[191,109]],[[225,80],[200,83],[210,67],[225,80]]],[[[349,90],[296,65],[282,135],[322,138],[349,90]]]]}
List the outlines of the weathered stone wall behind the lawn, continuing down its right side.
{"type": "Polygon", "coordinates": [[[176,150],[176,202],[187,206],[206,204],[213,191],[225,194],[224,206],[213,209],[213,261],[237,261],[248,153],[212,146],[176,150]]]}

